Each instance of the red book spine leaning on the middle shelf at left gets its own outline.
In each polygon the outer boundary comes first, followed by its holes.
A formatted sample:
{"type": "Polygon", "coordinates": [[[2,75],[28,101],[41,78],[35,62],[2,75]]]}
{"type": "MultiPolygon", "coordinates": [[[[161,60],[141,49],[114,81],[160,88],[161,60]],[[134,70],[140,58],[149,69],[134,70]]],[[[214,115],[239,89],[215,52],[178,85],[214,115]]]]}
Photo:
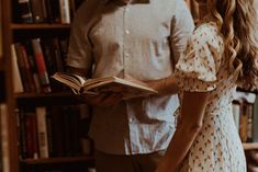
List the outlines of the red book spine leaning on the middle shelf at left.
{"type": "Polygon", "coordinates": [[[32,39],[32,47],[34,51],[34,58],[37,67],[42,90],[43,92],[51,92],[51,82],[46,70],[44,55],[41,47],[41,39],[40,38],[32,39]]]}

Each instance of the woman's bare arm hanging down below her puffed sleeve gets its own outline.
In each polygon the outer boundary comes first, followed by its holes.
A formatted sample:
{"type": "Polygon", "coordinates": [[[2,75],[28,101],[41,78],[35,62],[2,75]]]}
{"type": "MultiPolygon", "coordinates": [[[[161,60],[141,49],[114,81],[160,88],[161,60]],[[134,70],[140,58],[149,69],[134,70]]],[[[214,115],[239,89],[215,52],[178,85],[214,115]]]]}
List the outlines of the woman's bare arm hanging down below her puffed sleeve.
{"type": "Polygon", "coordinates": [[[177,172],[202,128],[207,96],[204,92],[184,92],[180,124],[156,172],[177,172]]]}

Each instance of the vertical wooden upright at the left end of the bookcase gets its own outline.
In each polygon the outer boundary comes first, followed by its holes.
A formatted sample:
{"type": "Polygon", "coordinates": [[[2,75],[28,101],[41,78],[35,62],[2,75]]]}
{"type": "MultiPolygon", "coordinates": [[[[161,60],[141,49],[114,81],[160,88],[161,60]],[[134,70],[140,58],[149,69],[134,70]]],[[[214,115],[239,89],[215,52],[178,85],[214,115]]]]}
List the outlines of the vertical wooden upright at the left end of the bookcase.
{"type": "Polygon", "coordinates": [[[18,133],[16,133],[16,116],[14,113],[15,107],[15,101],[14,101],[14,94],[13,94],[13,82],[12,82],[12,58],[11,58],[11,42],[12,42],[12,33],[10,28],[10,23],[12,19],[11,14],[11,7],[12,1],[1,1],[2,3],[2,38],[3,38],[3,72],[4,72],[4,79],[5,79],[5,104],[7,104],[7,113],[8,113],[8,154],[7,159],[9,161],[9,164],[5,169],[9,169],[10,172],[19,172],[20,165],[19,165],[19,149],[18,149],[18,133]]]}

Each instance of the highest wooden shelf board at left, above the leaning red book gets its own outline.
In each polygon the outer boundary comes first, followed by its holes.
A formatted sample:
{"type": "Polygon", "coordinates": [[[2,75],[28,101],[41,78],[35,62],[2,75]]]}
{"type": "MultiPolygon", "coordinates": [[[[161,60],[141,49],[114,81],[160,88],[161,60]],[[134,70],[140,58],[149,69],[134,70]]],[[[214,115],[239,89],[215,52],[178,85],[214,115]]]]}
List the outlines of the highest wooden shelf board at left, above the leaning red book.
{"type": "Polygon", "coordinates": [[[33,24],[19,24],[12,23],[12,30],[60,30],[70,28],[70,24],[49,24],[49,23],[33,23],[33,24]]]}

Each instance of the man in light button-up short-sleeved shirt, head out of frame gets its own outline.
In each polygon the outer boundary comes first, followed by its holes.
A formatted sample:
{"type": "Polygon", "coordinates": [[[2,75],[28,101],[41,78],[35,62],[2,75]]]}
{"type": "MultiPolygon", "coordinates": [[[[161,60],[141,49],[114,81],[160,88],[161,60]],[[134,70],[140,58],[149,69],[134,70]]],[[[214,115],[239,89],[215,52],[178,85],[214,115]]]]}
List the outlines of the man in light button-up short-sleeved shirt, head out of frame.
{"type": "Polygon", "coordinates": [[[153,172],[175,131],[173,66],[193,20],[183,0],[88,0],[74,19],[67,65],[88,78],[135,78],[159,95],[86,96],[98,172],[153,172]],[[171,83],[171,85],[170,85],[171,83]],[[166,88],[166,89],[165,89],[166,88]]]}

